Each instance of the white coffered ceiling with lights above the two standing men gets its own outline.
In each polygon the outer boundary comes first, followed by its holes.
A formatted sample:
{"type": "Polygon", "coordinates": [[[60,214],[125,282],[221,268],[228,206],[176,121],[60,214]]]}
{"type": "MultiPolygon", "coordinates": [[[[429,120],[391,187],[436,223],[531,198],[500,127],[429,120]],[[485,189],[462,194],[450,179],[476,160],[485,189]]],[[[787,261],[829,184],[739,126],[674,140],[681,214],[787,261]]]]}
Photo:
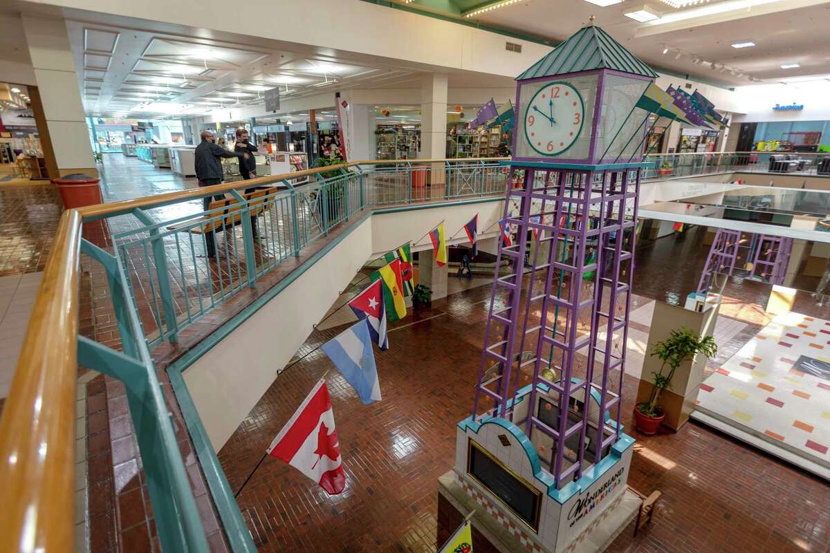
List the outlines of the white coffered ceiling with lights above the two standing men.
{"type": "MultiPolygon", "coordinates": [[[[325,90],[415,86],[413,70],[351,61],[267,44],[170,35],[130,27],[67,21],[87,113],[154,117],[204,114],[325,90]]],[[[297,45],[300,48],[300,45],[297,45]]]]}

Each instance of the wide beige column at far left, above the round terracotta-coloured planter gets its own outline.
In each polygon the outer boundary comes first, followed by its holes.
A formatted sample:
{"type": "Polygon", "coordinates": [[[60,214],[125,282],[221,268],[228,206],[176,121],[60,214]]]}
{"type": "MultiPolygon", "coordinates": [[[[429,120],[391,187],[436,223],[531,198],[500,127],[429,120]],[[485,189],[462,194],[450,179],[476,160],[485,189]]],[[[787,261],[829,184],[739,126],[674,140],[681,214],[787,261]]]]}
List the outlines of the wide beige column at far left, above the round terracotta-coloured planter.
{"type": "Polygon", "coordinates": [[[32,111],[49,177],[97,177],[66,23],[25,14],[21,19],[37,82],[29,93],[32,111]]]}

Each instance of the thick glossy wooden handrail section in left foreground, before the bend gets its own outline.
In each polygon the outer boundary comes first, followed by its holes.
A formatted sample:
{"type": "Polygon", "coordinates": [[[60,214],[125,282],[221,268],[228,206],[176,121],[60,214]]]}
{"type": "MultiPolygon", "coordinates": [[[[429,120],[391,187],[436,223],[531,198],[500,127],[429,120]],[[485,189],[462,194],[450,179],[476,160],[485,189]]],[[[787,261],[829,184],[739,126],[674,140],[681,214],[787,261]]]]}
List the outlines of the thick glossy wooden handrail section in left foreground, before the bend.
{"type": "Polygon", "coordinates": [[[81,214],[65,211],[0,420],[0,551],[72,551],[81,214]]]}

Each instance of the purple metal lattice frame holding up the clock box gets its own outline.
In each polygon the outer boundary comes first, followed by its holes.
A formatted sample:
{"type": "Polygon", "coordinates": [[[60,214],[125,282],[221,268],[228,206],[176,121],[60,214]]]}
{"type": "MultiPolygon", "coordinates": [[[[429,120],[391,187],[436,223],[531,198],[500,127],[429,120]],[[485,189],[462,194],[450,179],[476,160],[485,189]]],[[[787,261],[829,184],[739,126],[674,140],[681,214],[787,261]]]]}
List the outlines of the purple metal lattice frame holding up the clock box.
{"type": "Polygon", "coordinates": [[[537,430],[548,435],[553,446],[549,455],[539,452],[540,458],[559,488],[599,463],[622,432],[620,392],[640,166],[621,163],[598,167],[538,168],[516,162],[511,167],[511,181],[515,174],[524,172],[523,186],[508,187],[505,197],[504,219],[518,229],[518,240],[511,246],[499,246],[473,404],[475,420],[501,417],[522,425],[529,438],[537,430]],[[533,236],[530,230],[535,230],[538,238],[530,238],[537,240],[537,247],[530,269],[526,269],[527,238],[533,236]],[[547,255],[540,263],[541,250],[547,255]],[[510,274],[499,276],[498,267],[505,259],[510,260],[510,274]],[[502,303],[504,290],[507,301],[502,303]],[[537,310],[539,322],[531,323],[530,315],[535,318],[537,310]],[[603,332],[604,338],[600,337],[603,332]],[[525,358],[525,347],[534,355],[525,358]],[[494,362],[496,370],[487,369],[494,362]],[[530,366],[532,375],[525,369],[530,366]],[[555,380],[543,375],[548,369],[558,373],[555,380]],[[619,374],[613,375],[614,370],[619,374]],[[530,379],[529,392],[527,386],[521,387],[523,376],[525,381],[530,379]],[[520,390],[522,395],[530,395],[530,408],[526,420],[513,420],[520,390]],[[584,409],[571,424],[570,399],[580,390],[584,409]],[[540,393],[556,402],[558,428],[536,416],[534,407],[540,393]],[[493,407],[480,415],[483,398],[493,400],[493,407]],[[612,417],[613,408],[616,416],[612,417]],[[598,429],[588,424],[595,409],[598,429]],[[565,468],[565,441],[571,439],[573,445],[574,435],[579,435],[575,449],[579,460],[565,468]],[[588,458],[586,451],[588,440],[595,444],[593,458],[588,458]]]}

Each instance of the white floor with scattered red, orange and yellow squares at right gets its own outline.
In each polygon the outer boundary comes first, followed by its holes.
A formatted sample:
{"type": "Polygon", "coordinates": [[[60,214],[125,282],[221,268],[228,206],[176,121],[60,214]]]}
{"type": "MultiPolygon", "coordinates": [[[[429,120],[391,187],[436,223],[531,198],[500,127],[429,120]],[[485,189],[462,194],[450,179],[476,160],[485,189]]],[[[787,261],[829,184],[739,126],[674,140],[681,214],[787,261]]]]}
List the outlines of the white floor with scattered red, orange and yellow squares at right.
{"type": "Polygon", "coordinates": [[[701,384],[698,406],[830,467],[830,321],[774,318],[701,384]]]}

